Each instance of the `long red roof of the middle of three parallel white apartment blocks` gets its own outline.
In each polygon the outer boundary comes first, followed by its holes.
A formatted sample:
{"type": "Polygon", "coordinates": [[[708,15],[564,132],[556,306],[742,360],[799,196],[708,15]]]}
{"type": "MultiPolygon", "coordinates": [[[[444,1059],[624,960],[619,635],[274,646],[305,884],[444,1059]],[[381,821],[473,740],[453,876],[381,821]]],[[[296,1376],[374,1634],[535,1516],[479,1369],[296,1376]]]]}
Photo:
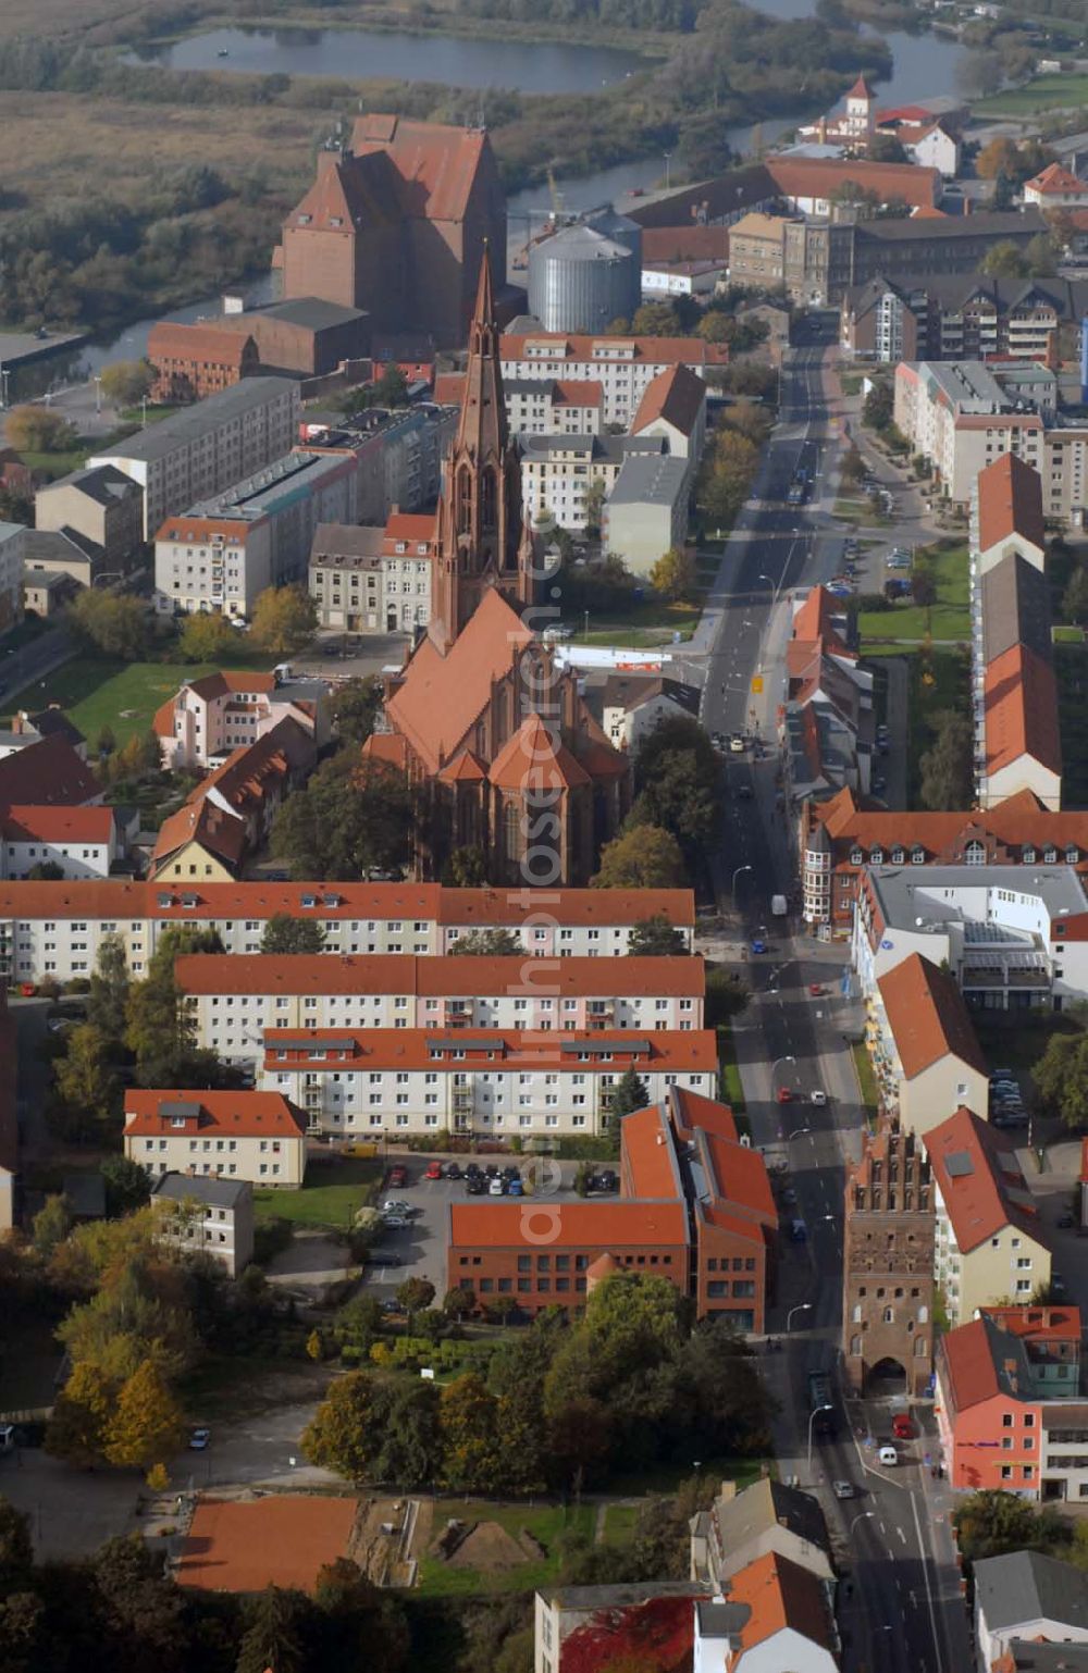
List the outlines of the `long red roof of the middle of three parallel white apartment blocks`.
{"type": "Polygon", "coordinates": [[[187,994],[418,994],[420,997],[685,997],[700,999],[701,959],[444,959],[413,954],[182,954],[174,960],[187,994]]]}

